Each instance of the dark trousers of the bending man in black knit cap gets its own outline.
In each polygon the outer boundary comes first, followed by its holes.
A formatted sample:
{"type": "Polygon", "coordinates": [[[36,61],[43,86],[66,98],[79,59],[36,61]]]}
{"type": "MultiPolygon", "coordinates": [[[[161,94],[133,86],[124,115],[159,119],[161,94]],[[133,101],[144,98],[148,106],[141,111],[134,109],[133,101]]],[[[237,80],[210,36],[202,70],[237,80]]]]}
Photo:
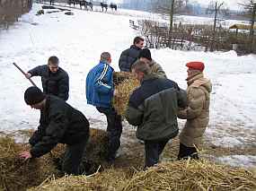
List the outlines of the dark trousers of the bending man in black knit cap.
{"type": "Polygon", "coordinates": [[[84,165],[82,164],[87,139],[82,143],[73,145],[66,144],[66,152],[62,161],[62,171],[68,175],[84,174],[84,165]]]}

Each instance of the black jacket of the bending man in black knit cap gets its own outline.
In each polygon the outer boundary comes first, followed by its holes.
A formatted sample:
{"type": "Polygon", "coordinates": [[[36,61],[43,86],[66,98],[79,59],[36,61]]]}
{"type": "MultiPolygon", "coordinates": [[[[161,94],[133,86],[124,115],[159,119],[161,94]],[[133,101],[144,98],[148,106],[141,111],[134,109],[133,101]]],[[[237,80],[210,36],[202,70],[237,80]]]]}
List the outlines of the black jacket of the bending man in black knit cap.
{"type": "Polygon", "coordinates": [[[40,126],[31,136],[31,152],[40,157],[57,143],[80,143],[89,135],[89,122],[83,113],[56,96],[48,96],[41,110],[40,126]]]}

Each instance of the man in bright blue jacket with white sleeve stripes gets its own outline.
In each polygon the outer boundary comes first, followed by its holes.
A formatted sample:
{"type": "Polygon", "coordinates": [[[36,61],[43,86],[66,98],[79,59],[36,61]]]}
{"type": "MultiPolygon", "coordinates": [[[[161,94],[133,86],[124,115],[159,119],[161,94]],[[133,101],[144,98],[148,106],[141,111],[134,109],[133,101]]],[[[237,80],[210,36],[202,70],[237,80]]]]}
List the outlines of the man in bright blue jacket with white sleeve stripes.
{"type": "Polygon", "coordinates": [[[110,66],[111,56],[103,52],[101,61],[94,66],[86,78],[86,99],[107,117],[107,132],[109,136],[109,156],[107,161],[113,162],[120,146],[122,133],[121,117],[112,107],[111,100],[114,94],[113,72],[110,66]]]}

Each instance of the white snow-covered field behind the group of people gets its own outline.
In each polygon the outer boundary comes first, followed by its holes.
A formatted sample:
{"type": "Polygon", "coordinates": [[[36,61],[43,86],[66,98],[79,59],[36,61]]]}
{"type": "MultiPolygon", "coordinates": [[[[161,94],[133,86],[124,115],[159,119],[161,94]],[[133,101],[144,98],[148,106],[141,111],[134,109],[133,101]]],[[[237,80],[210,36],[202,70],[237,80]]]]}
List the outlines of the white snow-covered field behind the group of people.
{"type": "MultiPolygon", "coordinates": [[[[67,102],[84,112],[93,122],[92,127],[104,128],[105,117],[86,104],[86,74],[98,64],[103,51],[110,52],[112,65],[118,71],[121,51],[128,48],[137,35],[129,28],[128,21],[145,15],[139,16],[139,12],[134,11],[110,14],[74,10],[73,16],[63,12],[35,16],[39,9],[40,4],[34,4],[31,13],[23,15],[10,30],[0,31],[0,131],[36,128],[40,117],[39,111],[24,103],[23,91],[31,83],[12,63],[28,71],[34,66],[47,64],[48,57],[52,55],[59,57],[60,66],[70,76],[70,98],[67,102]]],[[[237,56],[234,51],[186,52],[168,48],[152,49],[152,54],[168,77],[183,89],[186,88],[186,62],[205,62],[205,74],[213,83],[210,123],[205,140],[220,147],[256,150],[255,55],[237,56]]],[[[34,77],[33,81],[41,86],[40,78],[34,77]]],[[[180,122],[182,127],[184,121],[180,122]]],[[[225,156],[219,161],[256,166],[256,156],[246,153],[225,156]]]]}

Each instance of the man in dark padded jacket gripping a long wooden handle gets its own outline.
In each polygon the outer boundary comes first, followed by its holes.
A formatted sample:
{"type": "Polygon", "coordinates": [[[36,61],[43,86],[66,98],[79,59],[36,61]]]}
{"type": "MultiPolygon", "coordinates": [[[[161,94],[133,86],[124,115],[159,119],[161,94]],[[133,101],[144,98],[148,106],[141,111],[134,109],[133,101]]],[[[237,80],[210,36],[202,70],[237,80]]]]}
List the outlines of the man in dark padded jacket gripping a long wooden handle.
{"type": "Polygon", "coordinates": [[[48,65],[39,65],[31,69],[27,78],[32,76],[41,76],[43,92],[49,95],[55,95],[62,100],[68,99],[69,78],[65,70],[58,66],[57,56],[50,56],[48,65]]]}

